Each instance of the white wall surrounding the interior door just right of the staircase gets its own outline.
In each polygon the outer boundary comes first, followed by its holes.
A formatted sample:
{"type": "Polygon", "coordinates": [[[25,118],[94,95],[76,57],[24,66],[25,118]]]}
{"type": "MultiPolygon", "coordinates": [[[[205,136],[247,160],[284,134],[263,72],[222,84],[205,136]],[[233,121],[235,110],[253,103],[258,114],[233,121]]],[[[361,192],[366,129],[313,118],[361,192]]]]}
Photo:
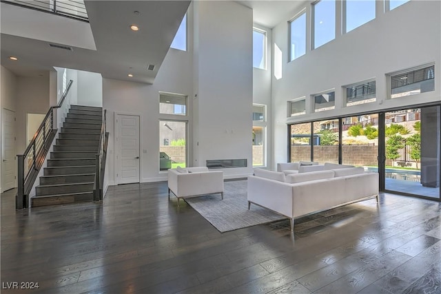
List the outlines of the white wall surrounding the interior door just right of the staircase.
{"type": "MultiPolygon", "coordinates": [[[[191,51],[170,49],[153,85],[103,78],[103,109],[107,109],[107,132],[110,133],[105,173],[109,185],[114,185],[116,182],[114,117],[118,113],[141,116],[141,182],[167,180],[167,172],[159,172],[160,91],[192,96],[191,51]]],[[[189,102],[192,103],[191,98],[189,102]]],[[[191,123],[190,120],[189,129],[191,123]]],[[[188,141],[191,142],[191,133],[188,141]]]]}

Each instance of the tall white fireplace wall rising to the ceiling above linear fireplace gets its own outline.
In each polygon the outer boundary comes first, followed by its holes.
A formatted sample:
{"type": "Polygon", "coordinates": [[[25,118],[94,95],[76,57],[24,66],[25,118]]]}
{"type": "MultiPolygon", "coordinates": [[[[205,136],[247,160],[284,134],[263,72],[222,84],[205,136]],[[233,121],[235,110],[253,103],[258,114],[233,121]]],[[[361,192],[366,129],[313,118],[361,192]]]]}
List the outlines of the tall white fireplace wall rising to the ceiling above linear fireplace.
{"type": "Polygon", "coordinates": [[[224,169],[225,178],[245,176],[252,173],[252,10],[233,1],[199,1],[196,13],[194,165],[246,158],[248,167],[224,169]]]}

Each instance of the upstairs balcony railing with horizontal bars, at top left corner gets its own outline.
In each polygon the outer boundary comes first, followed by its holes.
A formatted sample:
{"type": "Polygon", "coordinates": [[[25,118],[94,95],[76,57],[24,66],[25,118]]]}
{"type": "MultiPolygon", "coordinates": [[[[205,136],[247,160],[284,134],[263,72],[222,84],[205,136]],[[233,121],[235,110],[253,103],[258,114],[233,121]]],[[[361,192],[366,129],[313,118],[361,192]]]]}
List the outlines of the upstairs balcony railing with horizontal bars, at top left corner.
{"type": "Polygon", "coordinates": [[[89,22],[83,0],[1,0],[1,2],[89,22]]]}

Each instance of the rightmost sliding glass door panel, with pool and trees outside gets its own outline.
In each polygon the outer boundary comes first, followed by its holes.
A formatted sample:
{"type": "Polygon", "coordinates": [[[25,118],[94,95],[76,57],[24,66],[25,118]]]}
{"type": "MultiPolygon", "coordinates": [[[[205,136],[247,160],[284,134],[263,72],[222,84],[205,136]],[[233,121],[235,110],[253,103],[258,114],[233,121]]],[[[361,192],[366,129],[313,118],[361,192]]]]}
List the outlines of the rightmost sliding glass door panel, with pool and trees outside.
{"type": "Polygon", "coordinates": [[[388,191],[440,198],[440,107],[385,114],[388,191]]]}

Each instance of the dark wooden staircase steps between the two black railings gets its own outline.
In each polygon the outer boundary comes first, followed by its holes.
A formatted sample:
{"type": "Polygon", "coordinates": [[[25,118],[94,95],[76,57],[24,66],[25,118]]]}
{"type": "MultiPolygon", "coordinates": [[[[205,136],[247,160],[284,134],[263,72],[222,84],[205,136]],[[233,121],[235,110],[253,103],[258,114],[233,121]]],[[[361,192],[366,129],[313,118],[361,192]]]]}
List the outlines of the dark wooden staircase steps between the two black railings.
{"type": "Polygon", "coordinates": [[[70,105],[31,206],[92,201],[103,110],[70,105]]]}

